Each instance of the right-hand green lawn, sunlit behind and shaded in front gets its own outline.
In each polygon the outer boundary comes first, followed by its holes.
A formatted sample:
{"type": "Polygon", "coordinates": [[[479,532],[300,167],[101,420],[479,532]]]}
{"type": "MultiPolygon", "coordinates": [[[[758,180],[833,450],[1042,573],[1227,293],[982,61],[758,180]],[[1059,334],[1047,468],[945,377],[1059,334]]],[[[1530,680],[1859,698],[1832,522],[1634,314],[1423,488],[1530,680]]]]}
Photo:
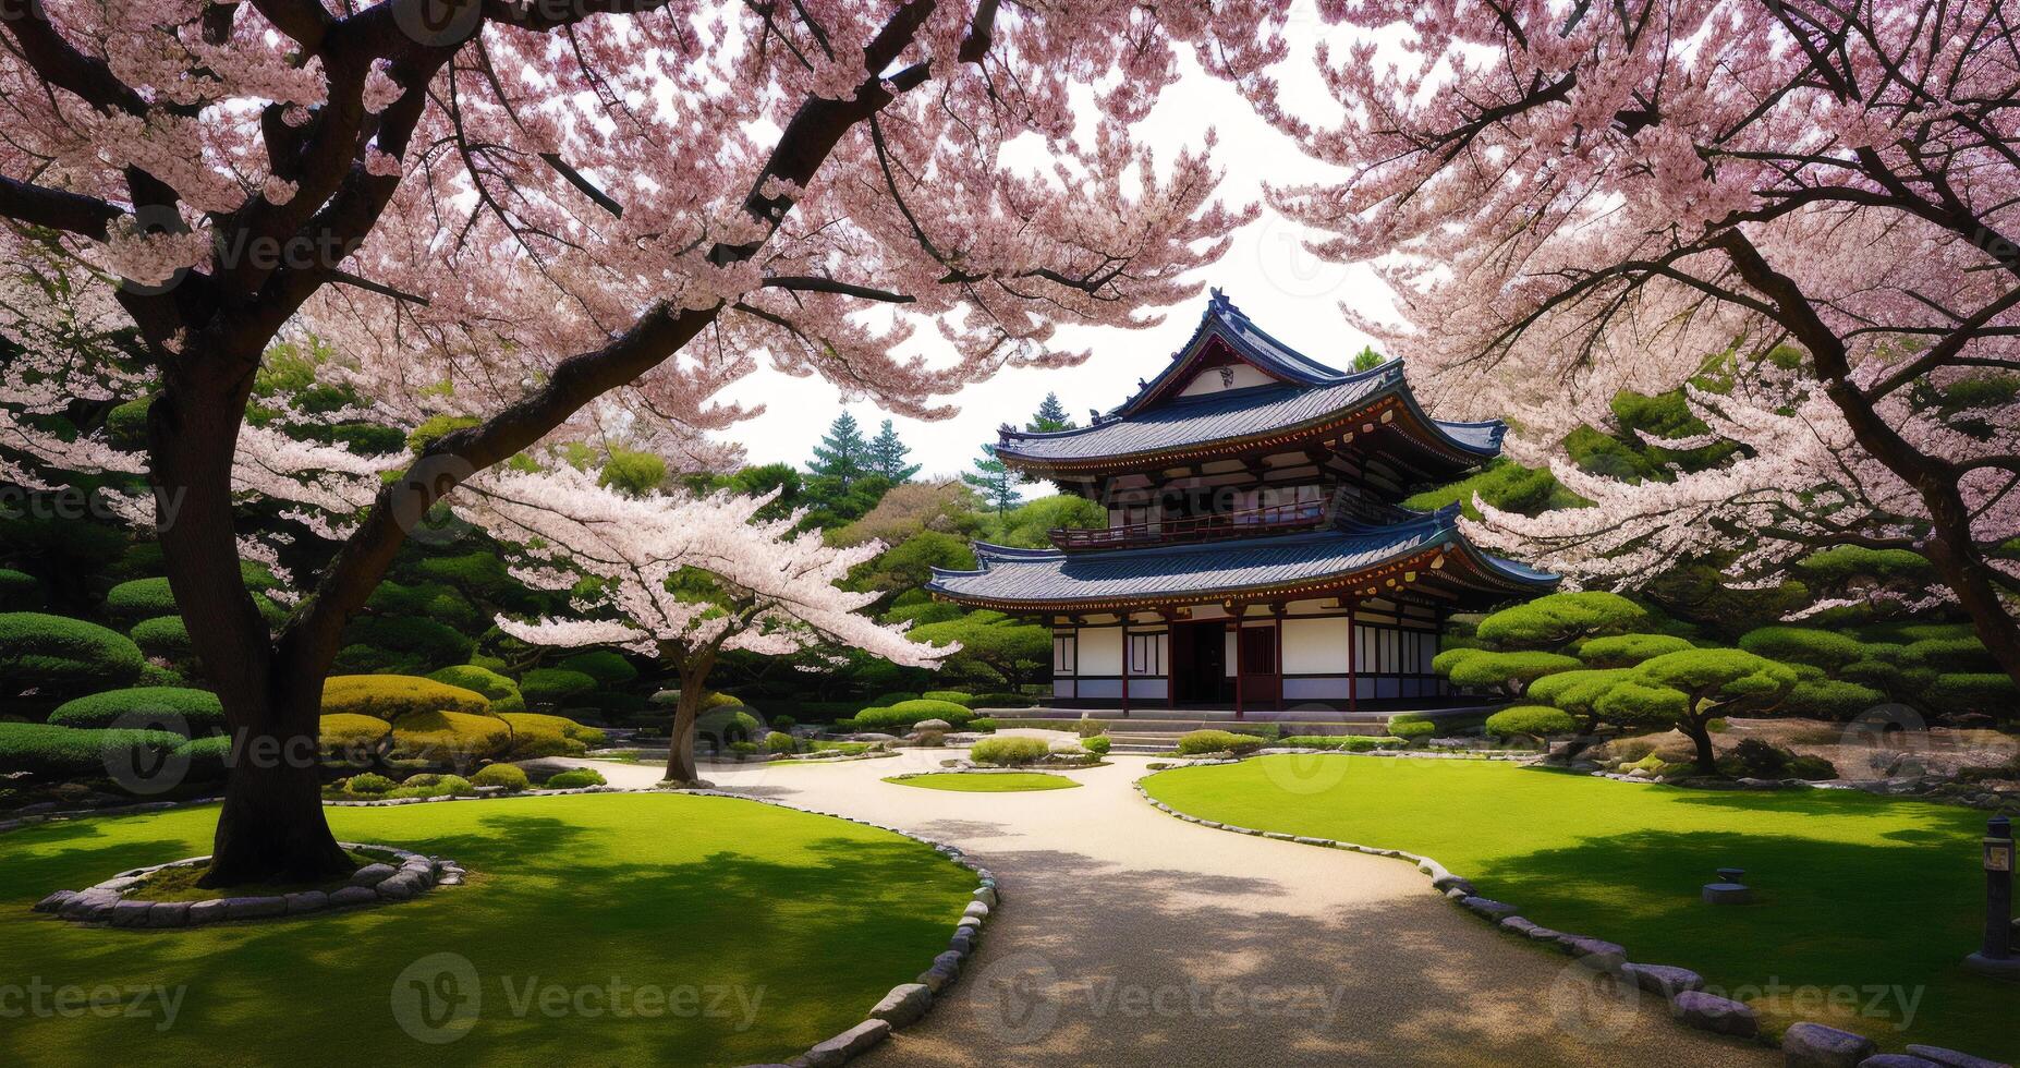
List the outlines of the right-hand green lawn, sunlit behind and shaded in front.
{"type": "Polygon", "coordinates": [[[1980,812],[1345,755],[1186,767],[1145,787],[1206,820],[1432,856],[1535,923],[1697,969],[1776,1032],[1820,1020],[1889,1048],[2020,1060],[2020,985],[1959,967],[1984,925],[1980,812]],[[1747,868],[1755,904],[1699,900],[1723,866],[1747,868]]]}

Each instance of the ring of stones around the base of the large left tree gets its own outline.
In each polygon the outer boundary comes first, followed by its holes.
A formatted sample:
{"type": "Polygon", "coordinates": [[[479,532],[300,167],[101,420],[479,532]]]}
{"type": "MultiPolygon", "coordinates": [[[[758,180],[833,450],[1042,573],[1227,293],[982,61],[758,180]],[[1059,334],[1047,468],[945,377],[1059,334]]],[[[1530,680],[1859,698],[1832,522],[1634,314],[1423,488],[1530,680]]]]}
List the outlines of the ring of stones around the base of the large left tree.
{"type": "Polygon", "coordinates": [[[83,890],[57,890],[34,904],[36,913],[50,913],[73,923],[107,923],[131,929],[184,929],[220,921],[265,921],[295,919],[329,909],[351,909],[360,904],[394,904],[412,900],[436,886],[461,886],[465,870],[454,860],[422,856],[418,852],[392,846],[358,842],[337,842],[345,850],[368,850],[390,856],[394,864],[368,864],[358,868],[349,884],[339,890],[301,890],[271,896],[230,896],[210,900],[141,900],[135,892],[145,892],[147,876],[168,868],[194,868],[208,864],[210,856],[190,856],[119,872],[97,886],[83,890]]]}

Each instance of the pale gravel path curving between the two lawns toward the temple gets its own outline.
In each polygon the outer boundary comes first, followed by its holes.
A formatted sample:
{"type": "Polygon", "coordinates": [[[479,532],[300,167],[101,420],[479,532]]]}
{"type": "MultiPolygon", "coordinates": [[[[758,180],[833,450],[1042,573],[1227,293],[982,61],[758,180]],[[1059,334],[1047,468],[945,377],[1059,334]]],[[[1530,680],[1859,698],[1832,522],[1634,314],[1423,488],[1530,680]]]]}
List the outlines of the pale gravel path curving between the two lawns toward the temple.
{"type": "MultiPolygon", "coordinates": [[[[1174,820],[1131,785],[1143,757],[1042,793],[881,781],[941,755],[703,771],[721,789],[957,844],[1002,878],[1004,909],[949,997],[865,1064],[1780,1062],[1673,1024],[1660,997],[1598,989],[1402,860],[1174,820]]],[[[659,779],[598,767],[614,785],[659,779]]]]}

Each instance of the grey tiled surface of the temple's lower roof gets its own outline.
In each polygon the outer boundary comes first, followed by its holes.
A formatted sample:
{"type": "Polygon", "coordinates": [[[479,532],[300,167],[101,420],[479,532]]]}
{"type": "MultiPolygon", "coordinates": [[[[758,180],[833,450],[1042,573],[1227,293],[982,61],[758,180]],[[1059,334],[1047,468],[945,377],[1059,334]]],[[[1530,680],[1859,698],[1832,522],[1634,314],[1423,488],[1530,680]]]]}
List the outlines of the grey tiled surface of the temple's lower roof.
{"type": "Polygon", "coordinates": [[[1458,533],[1454,505],[1386,527],[1101,553],[978,543],[978,569],[935,567],[925,588],[957,602],[1032,608],[1176,596],[1208,602],[1248,590],[1347,579],[1436,545],[1452,545],[1477,561],[1483,579],[1509,592],[1557,583],[1557,575],[1479,551],[1458,533]]]}

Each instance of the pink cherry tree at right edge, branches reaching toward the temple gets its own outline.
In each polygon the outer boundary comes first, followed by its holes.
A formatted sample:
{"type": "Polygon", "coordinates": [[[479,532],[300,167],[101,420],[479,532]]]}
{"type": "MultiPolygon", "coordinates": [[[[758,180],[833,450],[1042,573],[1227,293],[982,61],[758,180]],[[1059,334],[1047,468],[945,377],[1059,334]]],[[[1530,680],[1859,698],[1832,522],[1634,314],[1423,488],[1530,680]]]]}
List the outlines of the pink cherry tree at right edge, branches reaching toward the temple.
{"type": "MultiPolygon", "coordinates": [[[[1273,190],[1398,293],[1361,319],[1420,396],[1511,414],[1594,509],[1475,537],[1582,581],[1826,545],[1913,549],[2020,680],[2020,36],[1998,0],[1325,0],[1345,178],[1273,190]],[[1739,458],[1626,483],[1563,462],[1620,390],[1697,386],[1739,458]]],[[[1709,444],[1654,442],[1671,448],[1709,444]]]]}

